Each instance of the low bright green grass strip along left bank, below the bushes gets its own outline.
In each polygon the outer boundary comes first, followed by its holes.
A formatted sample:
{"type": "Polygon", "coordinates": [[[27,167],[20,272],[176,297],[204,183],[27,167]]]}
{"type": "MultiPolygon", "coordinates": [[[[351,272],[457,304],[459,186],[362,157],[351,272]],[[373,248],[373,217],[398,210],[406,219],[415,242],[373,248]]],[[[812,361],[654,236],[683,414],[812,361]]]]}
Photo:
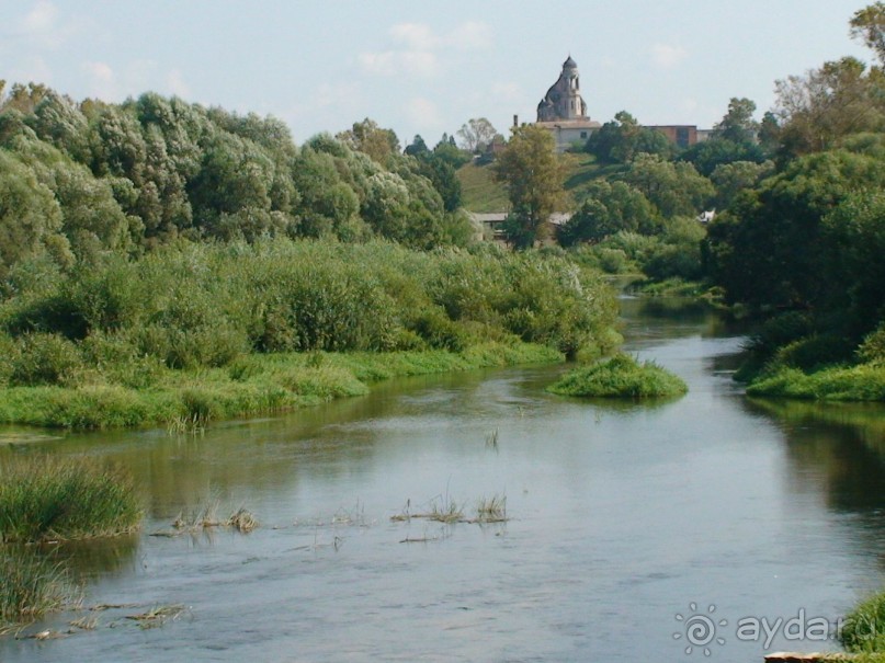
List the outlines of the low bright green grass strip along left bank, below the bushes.
{"type": "Polygon", "coordinates": [[[250,355],[223,368],[164,369],[144,389],[107,384],[2,389],[0,422],[77,430],[162,425],[188,432],[215,420],[362,396],[372,382],[394,377],[564,359],[554,348],[529,343],[486,343],[462,352],[250,355]]]}

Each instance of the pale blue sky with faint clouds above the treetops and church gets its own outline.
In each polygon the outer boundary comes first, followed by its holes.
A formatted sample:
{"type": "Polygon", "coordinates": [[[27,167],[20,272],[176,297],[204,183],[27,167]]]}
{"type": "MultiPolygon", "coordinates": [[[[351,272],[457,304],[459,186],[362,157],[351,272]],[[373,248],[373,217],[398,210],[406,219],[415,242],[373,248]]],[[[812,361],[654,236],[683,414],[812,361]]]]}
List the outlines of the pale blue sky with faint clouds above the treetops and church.
{"type": "MultiPolygon", "coordinates": [[[[872,2],[872,0],[870,0],[872,2]]],[[[710,128],[731,98],[853,55],[863,0],[0,0],[0,79],[273,115],[296,142],[370,117],[434,145],[507,134],[571,55],[591,118],[710,128]]]]}

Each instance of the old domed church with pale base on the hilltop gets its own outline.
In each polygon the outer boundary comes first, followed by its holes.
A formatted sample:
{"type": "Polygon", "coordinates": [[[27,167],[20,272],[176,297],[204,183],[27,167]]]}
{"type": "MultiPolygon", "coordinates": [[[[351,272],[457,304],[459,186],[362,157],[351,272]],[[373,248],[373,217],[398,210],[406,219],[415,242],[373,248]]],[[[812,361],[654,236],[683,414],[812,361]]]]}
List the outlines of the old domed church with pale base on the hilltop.
{"type": "Polygon", "coordinates": [[[600,127],[587,115],[578,65],[570,55],[563,62],[559,79],[537,104],[536,124],[553,134],[557,152],[566,151],[576,142],[586,142],[590,134],[600,127]]]}

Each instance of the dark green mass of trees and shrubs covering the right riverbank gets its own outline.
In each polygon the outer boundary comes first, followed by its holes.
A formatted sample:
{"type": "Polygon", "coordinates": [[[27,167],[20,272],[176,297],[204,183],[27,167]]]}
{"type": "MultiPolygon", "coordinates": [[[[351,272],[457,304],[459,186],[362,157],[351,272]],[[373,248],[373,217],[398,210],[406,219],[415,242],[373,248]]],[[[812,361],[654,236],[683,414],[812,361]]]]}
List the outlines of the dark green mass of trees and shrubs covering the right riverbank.
{"type": "MultiPolygon", "coordinates": [[[[851,22],[877,55],[880,4],[851,22]]],[[[708,227],[705,270],[735,310],[761,319],[739,371],[751,393],[885,400],[883,92],[882,67],[850,57],[779,81],[760,126],[775,163],[712,174],[726,208],[708,227]]]]}

